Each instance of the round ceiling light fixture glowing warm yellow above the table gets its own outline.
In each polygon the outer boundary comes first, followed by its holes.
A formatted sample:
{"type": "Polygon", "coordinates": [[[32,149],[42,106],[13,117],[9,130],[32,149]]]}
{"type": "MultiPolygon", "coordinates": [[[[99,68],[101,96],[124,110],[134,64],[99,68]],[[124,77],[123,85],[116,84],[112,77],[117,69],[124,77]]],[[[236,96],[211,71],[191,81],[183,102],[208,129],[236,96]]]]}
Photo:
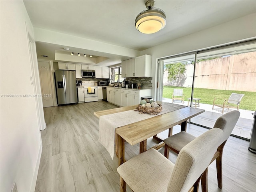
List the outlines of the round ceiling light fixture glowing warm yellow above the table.
{"type": "Polygon", "coordinates": [[[158,32],[166,25],[166,16],[164,11],[158,8],[153,8],[154,0],[146,2],[146,8],[138,14],[135,19],[135,27],[138,31],[145,34],[158,32]]]}

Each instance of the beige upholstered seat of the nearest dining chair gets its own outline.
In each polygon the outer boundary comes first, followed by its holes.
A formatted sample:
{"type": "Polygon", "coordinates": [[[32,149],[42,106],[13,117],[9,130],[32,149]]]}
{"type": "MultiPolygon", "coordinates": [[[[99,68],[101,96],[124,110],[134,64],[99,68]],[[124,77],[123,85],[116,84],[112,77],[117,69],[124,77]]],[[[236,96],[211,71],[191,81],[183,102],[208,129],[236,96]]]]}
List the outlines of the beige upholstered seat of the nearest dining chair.
{"type": "Polygon", "coordinates": [[[170,160],[150,149],[120,165],[117,172],[135,192],[162,192],[167,190],[173,168],[170,160]]]}

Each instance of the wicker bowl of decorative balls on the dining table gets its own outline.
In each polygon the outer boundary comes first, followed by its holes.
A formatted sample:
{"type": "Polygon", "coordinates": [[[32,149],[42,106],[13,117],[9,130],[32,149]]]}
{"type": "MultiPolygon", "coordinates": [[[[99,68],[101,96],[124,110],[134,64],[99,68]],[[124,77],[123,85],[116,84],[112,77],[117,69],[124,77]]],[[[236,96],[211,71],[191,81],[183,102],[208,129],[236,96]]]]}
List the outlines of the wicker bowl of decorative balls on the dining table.
{"type": "Polygon", "coordinates": [[[141,100],[140,104],[138,104],[134,111],[138,111],[140,114],[157,115],[162,111],[162,109],[163,108],[161,104],[145,99],[144,101],[141,100]]]}

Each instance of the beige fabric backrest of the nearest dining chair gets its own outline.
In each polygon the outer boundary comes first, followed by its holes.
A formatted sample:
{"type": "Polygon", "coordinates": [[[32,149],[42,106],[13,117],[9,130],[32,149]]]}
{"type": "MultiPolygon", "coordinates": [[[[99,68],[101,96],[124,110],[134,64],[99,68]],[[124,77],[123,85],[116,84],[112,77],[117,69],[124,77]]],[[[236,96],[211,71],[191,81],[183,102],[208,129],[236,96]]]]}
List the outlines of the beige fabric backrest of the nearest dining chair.
{"type": "Polygon", "coordinates": [[[168,192],[188,191],[209,166],[223,131],[213,128],[188,143],[176,160],[168,183],[168,192]]]}

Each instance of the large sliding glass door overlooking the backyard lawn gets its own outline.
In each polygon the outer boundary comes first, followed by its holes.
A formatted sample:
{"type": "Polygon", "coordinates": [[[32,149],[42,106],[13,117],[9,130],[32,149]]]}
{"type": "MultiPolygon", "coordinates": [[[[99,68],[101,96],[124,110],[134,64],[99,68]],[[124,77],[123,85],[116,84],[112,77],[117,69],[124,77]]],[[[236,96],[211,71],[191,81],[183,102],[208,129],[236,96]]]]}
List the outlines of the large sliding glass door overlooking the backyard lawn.
{"type": "Polygon", "coordinates": [[[212,128],[222,114],[239,110],[240,118],[232,134],[250,138],[252,113],[256,110],[255,41],[164,58],[159,66],[162,76],[158,87],[162,86],[162,90],[158,92],[162,94],[158,93],[158,98],[162,98],[158,100],[205,109],[190,122],[206,128],[212,128]],[[182,90],[184,101],[175,99],[180,97],[174,95],[175,90],[182,90]],[[230,101],[233,108],[223,108],[229,98],[238,101],[230,101]]]}

